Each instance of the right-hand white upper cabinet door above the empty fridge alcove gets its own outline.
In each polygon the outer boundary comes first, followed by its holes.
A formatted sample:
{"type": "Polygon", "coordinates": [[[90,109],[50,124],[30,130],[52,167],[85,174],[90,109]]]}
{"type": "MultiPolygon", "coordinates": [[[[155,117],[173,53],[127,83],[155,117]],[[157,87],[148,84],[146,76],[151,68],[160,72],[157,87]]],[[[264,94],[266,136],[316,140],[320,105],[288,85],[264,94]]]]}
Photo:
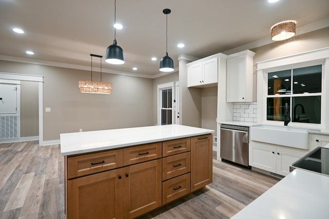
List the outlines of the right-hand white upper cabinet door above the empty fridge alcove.
{"type": "Polygon", "coordinates": [[[202,63],[203,84],[213,84],[218,82],[218,62],[217,58],[202,63]]]}

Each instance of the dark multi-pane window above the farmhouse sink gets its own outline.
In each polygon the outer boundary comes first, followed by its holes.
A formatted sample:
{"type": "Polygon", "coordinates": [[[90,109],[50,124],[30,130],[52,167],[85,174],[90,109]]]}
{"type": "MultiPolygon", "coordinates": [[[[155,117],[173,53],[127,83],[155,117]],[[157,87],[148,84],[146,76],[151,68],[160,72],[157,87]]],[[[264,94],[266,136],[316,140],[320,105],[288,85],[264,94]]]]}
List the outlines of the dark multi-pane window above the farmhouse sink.
{"type": "Polygon", "coordinates": [[[288,104],[291,122],[321,124],[322,65],[268,72],[266,118],[284,120],[288,104]]]}

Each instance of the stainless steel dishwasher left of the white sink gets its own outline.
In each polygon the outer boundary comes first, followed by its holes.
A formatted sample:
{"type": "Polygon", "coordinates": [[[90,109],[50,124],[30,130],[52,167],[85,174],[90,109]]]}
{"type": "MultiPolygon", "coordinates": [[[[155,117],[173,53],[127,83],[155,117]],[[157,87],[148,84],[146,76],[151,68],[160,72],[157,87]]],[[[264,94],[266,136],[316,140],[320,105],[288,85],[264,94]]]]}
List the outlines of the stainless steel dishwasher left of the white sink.
{"type": "Polygon", "coordinates": [[[249,127],[221,125],[222,160],[248,167],[249,127]]]}

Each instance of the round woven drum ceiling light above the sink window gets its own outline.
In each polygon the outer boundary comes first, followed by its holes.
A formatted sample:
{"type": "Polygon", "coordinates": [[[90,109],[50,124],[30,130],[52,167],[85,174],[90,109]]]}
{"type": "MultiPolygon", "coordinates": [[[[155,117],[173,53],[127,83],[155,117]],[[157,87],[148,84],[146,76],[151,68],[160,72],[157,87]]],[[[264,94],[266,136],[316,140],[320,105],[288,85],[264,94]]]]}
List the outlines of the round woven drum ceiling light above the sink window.
{"type": "Polygon", "coordinates": [[[272,41],[283,41],[296,34],[297,21],[289,20],[277,23],[271,27],[272,41]]]}

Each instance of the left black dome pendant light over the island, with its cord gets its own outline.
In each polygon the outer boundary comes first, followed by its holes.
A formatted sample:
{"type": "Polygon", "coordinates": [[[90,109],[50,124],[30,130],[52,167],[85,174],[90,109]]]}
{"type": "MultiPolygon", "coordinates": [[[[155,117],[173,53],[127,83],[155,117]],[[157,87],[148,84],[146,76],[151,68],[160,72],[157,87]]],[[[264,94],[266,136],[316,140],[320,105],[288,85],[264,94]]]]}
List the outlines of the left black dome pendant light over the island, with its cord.
{"type": "MultiPolygon", "coordinates": [[[[116,24],[117,1],[114,0],[114,25],[116,24]]],[[[124,64],[123,50],[117,45],[116,28],[114,28],[113,44],[108,46],[105,53],[105,62],[114,65],[124,64]]]]}

